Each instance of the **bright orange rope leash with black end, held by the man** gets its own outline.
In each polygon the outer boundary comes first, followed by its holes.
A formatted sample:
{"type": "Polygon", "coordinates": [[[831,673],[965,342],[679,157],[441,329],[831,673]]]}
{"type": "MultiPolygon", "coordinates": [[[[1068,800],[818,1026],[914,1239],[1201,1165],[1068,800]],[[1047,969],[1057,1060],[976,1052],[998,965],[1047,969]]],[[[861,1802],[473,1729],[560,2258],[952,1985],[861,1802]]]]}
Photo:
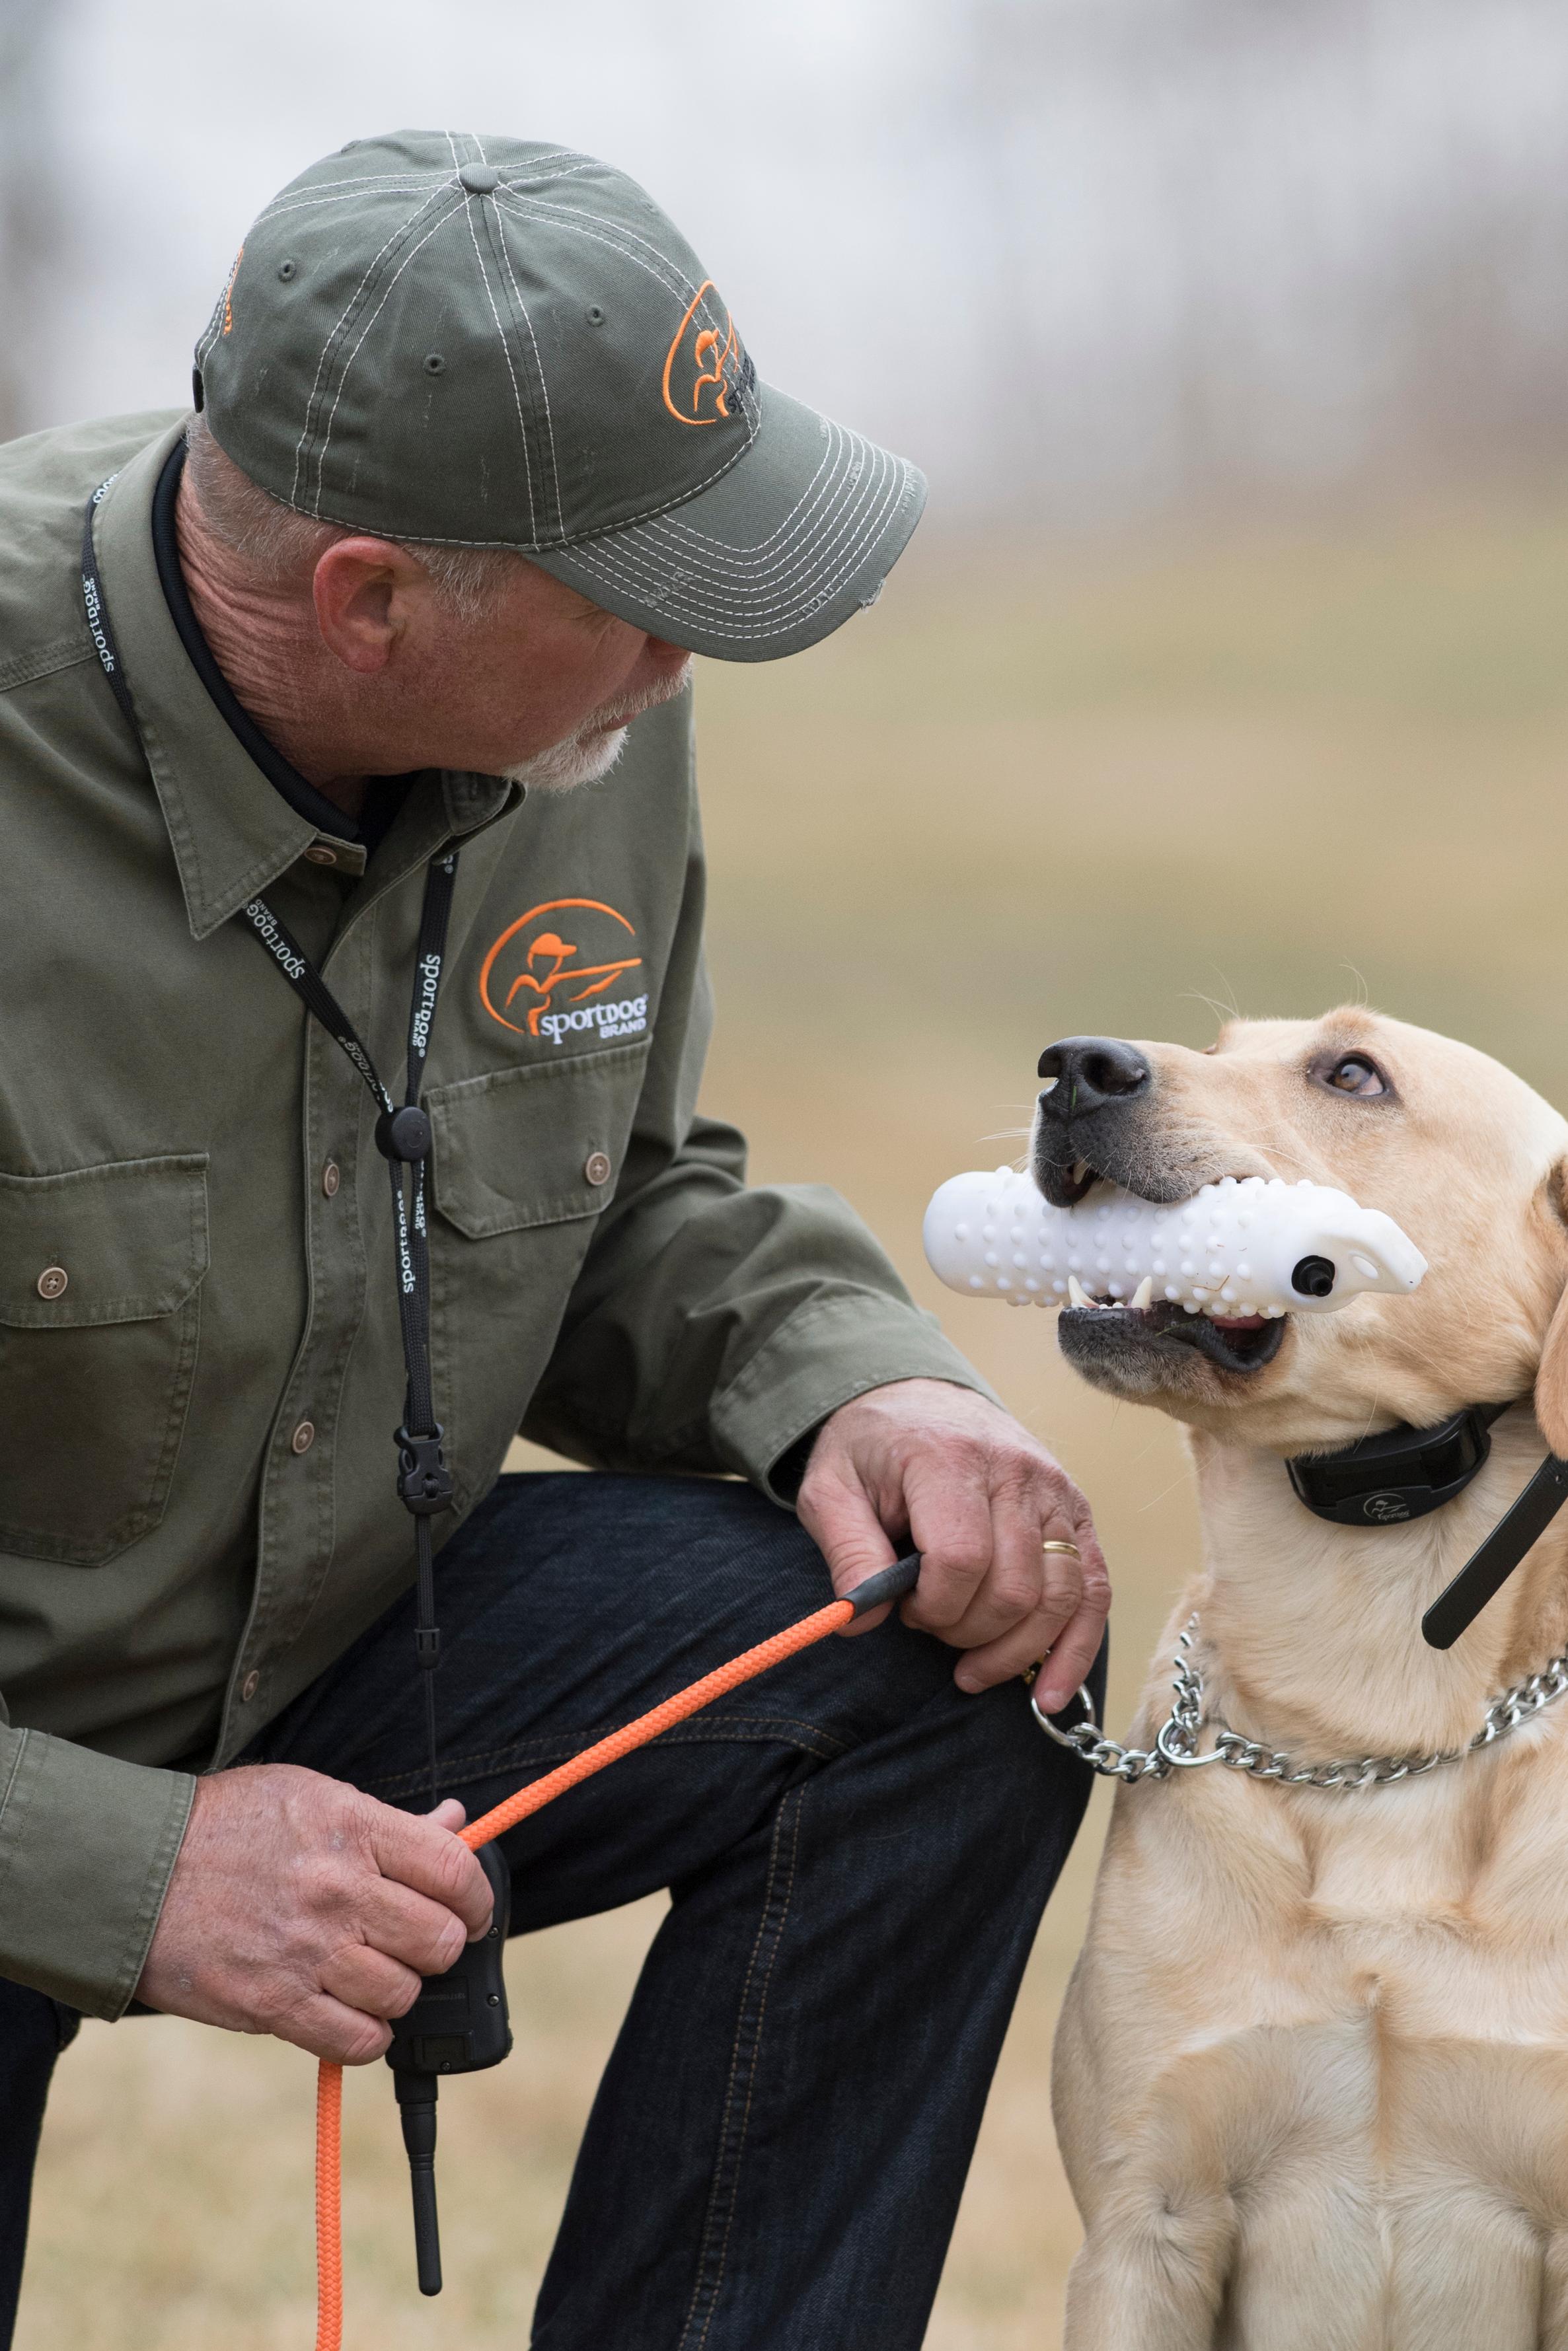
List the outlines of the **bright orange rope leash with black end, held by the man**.
{"type": "MultiPolygon", "coordinates": [[[[879,1608],[884,1601],[898,1599],[907,1592],[919,1573],[919,1556],[900,1559],[882,1575],[870,1575],[863,1585],[856,1585],[851,1594],[842,1601],[830,1601],[827,1608],[816,1608],[809,1617],[797,1625],[785,1625],[783,1632],[771,1634],[771,1639],[759,1641],[757,1648],[743,1650],[731,1657],[729,1665],[717,1667],[712,1674],[703,1674],[701,1681],[689,1683],[677,1690],[675,1697],[665,1697],[661,1707],[651,1707],[639,1714],[637,1721],[625,1723],[623,1730],[611,1730],[607,1740],[595,1740],[585,1747],[581,1756],[569,1763],[559,1763],[555,1770],[545,1773],[543,1780],[529,1780],[494,1810],[482,1813],[458,1836],[470,1850],[489,1846],[491,1838],[505,1836],[515,1829],[520,1820],[529,1813],[541,1813],[557,1796],[564,1796],[569,1787],[578,1787],[583,1780],[592,1780],[597,1770],[607,1763],[618,1763],[621,1756],[630,1756],[632,1749],[646,1747],[656,1740],[661,1730],[672,1723],[684,1723],[689,1714],[701,1714],[710,1707],[715,1697],[724,1697],[726,1690],[738,1690],[743,1681],[755,1681],[757,1674],[766,1674],[773,1665],[783,1665],[785,1657],[799,1655],[802,1648],[811,1648],[813,1641],[825,1641],[830,1632],[842,1632],[867,1608],[879,1608]]],[[[343,2346],[343,2067],[322,2062],[315,2090],[315,2351],[341,2351],[343,2346]]]]}

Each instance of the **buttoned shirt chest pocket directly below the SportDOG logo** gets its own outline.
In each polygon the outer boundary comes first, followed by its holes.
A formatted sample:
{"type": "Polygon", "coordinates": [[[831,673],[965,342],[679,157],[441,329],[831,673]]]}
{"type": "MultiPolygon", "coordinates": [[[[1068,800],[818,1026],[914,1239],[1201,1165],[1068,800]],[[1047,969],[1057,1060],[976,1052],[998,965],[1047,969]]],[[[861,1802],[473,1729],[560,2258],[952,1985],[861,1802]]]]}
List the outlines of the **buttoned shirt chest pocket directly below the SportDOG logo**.
{"type": "Polygon", "coordinates": [[[430,1340],[458,1502],[487,1491],[555,1347],[625,1159],[649,1039],[425,1096],[430,1340]]]}

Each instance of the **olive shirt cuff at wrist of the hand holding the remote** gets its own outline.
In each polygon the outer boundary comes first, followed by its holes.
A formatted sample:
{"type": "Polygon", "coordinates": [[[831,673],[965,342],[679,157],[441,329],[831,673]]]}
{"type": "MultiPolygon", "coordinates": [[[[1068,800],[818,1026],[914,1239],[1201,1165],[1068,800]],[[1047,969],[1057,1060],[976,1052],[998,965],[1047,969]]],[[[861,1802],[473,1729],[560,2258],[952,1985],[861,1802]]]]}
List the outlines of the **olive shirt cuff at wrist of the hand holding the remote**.
{"type": "Polygon", "coordinates": [[[136,1991],[195,1780],[0,1730],[0,1975],[89,2017],[136,1991]]]}

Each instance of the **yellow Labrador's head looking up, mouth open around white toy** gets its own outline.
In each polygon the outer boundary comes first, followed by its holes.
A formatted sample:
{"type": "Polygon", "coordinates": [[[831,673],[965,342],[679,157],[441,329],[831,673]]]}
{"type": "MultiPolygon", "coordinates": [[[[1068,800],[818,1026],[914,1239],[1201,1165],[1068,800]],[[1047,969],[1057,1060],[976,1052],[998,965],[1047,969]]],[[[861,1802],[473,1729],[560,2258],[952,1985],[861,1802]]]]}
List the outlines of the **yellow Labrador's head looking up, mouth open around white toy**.
{"type": "Polygon", "coordinates": [[[1098,1178],[1178,1201],[1222,1176],[1309,1176],[1382,1208],[1429,1262],[1413,1298],[1335,1314],[1065,1310],[1063,1354],[1095,1387],[1284,1453],[1535,1387],[1568,1453],[1568,1124],[1500,1063],[1342,1009],[1237,1020],[1206,1053],[1067,1037],[1039,1074],[1032,1171],[1058,1206],[1098,1178]]]}

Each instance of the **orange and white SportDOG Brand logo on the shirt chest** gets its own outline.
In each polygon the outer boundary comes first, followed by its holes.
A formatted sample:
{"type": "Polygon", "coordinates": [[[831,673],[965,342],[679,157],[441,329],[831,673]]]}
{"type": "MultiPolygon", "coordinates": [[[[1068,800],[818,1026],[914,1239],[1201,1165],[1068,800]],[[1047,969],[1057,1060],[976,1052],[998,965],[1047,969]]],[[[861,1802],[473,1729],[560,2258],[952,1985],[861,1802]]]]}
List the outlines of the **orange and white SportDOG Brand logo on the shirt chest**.
{"type": "Polygon", "coordinates": [[[484,957],[480,1004],[517,1037],[548,1037],[557,1046],[583,1034],[639,1037],[649,1025],[646,992],[632,994],[623,985],[611,997],[616,980],[642,969],[639,955],[614,952],[632,938],[637,933],[625,915],[602,898],[548,898],[531,905],[484,957]],[[564,931],[574,936],[567,938],[564,931]]]}

